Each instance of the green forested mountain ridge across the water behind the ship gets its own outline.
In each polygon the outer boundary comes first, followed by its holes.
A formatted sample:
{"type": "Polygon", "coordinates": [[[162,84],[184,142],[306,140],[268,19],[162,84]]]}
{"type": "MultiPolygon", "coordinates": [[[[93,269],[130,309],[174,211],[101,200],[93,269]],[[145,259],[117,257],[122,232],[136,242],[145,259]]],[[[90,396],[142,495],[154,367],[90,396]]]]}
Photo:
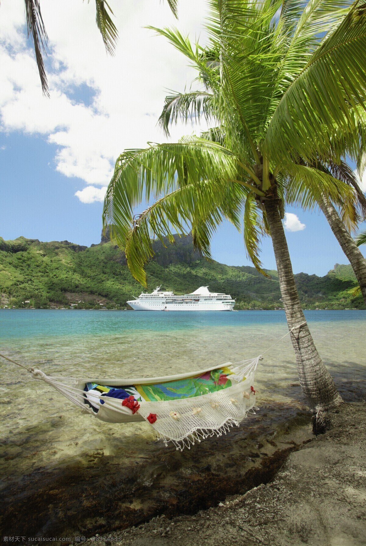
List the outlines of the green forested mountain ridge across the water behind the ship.
{"type": "MultiPolygon", "coordinates": [[[[175,244],[167,247],[155,241],[154,251],[146,268],[149,292],[160,284],[177,294],[208,285],[212,292],[231,294],[239,309],[282,306],[276,271],[267,270],[269,277],[264,277],[250,266],[207,262],[194,252],[190,236],[177,235],[175,244]]],[[[305,273],[295,277],[304,308],[364,308],[361,296],[352,296],[357,281],[350,265],[335,264],[324,277],[305,273]]],[[[125,254],[108,236],[91,247],[68,241],[0,238],[2,306],[125,307],[131,296],[140,293],[125,254]]]]}

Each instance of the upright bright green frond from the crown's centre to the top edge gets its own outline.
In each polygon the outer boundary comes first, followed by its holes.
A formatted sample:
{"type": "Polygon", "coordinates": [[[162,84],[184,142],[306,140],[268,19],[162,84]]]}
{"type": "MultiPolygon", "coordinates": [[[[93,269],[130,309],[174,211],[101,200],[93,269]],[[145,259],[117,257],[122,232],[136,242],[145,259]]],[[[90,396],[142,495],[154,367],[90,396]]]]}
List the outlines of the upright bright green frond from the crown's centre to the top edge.
{"type": "Polygon", "coordinates": [[[280,3],[211,0],[208,31],[220,52],[223,115],[228,132],[239,122],[257,159],[282,51],[274,46],[280,3]],[[235,121],[236,118],[236,121],[235,121]],[[234,123],[233,123],[234,122],[234,123]]]}

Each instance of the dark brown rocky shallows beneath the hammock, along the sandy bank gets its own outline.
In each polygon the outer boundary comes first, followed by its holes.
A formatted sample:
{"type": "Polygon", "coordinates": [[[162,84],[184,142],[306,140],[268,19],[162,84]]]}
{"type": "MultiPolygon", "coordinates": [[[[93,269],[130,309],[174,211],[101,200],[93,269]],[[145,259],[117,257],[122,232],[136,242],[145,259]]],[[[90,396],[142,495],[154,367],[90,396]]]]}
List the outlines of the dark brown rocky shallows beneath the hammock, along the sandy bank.
{"type": "MultiPolygon", "coordinates": [[[[57,428],[62,420],[58,416],[49,426],[57,428]]],[[[157,516],[196,514],[268,483],[288,455],[312,437],[305,407],[265,401],[243,426],[183,452],[164,447],[154,435],[146,441],[138,436],[128,452],[118,438],[113,451],[101,432],[92,443],[97,449],[80,457],[68,442],[62,446],[67,455],[52,467],[20,466],[39,460],[39,436],[31,444],[25,431],[0,445],[0,467],[8,472],[0,495],[2,536],[116,536],[157,516]],[[17,468],[27,470],[17,476],[17,468]]]]}

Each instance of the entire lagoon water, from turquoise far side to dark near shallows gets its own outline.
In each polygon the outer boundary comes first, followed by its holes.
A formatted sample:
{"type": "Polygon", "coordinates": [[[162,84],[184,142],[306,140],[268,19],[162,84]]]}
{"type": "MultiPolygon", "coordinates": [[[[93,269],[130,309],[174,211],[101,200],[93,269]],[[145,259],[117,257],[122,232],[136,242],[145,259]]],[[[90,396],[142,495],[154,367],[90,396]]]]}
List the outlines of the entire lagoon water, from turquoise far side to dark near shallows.
{"type": "MultiPolygon", "coordinates": [[[[366,312],[305,316],[344,399],[360,399],[366,312]]],[[[261,354],[287,331],[283,311],[0,310],[1,353],[72,377],[193,372],[261,354]]],[[[29,532],[58,526],[61,533],[70,525],[96,532],[156,513],[189,513],[196,494],[195,506],[214,505],[231,491],[245,490],[245,472],[258,462],[260,468],[263,456],[301,442],[296,435],[309,423],[290,336],[258,366],[256,416],[183,453],[157,442],[147,423],[108,424],[82,414],[49,385],[1,360],[0,488],[7,499],[4,514],[13,514],[8,533],[17,518],[29,532]],[[271,438],[278,432],[275,443],[271,438]],[[37,507],[36,521],[29,503],[37,507]]]]}

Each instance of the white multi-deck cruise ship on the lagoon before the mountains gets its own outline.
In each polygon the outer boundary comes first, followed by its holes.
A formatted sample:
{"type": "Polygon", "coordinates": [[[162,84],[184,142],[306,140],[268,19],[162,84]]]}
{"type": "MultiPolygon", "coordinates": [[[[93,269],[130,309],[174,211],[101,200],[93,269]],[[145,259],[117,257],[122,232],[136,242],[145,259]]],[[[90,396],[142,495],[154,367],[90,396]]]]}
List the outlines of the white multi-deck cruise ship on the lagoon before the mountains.
{"type": "Polygon", "coordinates": [[[163,292],[160,288],[158,286],[151,294],[141,293],[127,303],[135,311],[232,311],[235,304],[230,295],[209,292],[208,286],[201,286],[184,296],[163,292]]]}

